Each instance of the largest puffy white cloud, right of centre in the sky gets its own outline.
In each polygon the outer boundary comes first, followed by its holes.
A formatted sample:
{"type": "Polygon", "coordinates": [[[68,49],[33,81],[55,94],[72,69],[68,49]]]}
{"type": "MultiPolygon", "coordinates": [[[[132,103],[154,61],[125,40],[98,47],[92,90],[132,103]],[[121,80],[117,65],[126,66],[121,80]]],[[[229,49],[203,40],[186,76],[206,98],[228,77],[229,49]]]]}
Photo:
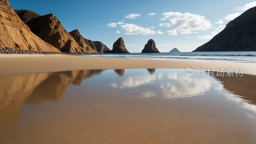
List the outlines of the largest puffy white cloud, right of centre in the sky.
{"type": "Polygon", "coordinates": [[[212,24],[204,16],[190,14],[189,12],[165,12],[162,15],[164,18],[161,20],[169,20],[172,27],[179,29],[181,34],[190,34],[192,30],[205,31],[212,28],[212,24]]]}

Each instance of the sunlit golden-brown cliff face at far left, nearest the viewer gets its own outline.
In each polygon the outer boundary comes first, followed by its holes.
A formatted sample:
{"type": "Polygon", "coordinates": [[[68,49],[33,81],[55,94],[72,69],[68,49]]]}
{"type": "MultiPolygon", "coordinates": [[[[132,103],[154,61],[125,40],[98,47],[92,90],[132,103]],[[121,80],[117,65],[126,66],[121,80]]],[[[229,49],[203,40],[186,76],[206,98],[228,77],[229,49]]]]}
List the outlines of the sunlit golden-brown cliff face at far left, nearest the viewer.
{"type": "Polygon", "coordinates": [[[31,32],[14,12],[8,0],[0,1],[0,47],[60,52],[31,32]]]}

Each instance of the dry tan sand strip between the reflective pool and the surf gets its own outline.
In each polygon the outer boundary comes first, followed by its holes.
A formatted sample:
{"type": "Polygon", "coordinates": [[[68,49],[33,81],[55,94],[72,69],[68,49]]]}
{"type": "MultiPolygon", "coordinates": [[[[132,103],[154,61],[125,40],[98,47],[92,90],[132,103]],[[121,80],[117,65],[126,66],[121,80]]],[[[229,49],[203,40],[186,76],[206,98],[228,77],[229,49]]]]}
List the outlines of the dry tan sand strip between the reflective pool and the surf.
{"type": "Polygon", "coordinates": [[[0,77],[68,70],[131,69],[131,68],[244,68],[244,74],[256,75],[256,63],[205,62],[205,61],[163,61],[147,59],[126,59],[112,57],[91,57],[80,55],[0,55],[0,77]]]}

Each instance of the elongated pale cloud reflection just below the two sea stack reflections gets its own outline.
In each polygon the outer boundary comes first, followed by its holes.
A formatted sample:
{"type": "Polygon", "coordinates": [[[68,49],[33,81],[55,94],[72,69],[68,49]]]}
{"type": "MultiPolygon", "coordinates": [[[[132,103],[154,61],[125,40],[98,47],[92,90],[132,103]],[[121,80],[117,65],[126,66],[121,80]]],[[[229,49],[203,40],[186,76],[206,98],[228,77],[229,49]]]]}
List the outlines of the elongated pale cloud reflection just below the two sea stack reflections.
{"type": "Polygon", "coordinates": [[[152,83],[156,80],[156,75],[141,75],[141,76],[130,76],[124,79],[124,81],[118,86],[117,83],[111,83],[112,88],[130,88],[137,87],[143,84],[152,83]]]}

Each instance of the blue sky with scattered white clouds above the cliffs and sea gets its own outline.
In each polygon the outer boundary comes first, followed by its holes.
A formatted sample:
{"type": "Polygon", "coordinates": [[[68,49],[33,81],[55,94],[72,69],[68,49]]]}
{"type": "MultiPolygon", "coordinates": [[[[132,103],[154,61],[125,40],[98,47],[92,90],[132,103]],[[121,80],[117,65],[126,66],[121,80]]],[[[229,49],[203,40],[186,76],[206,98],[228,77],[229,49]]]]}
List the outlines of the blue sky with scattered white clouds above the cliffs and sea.
{"type": "Polygon", "coordinates": [[[256,6],[255,0],[9,0],[9,3],[13,9],[40,15],[53,13],[68,32],[78,29],[84,38],[101,41],[109,49],[122,37],[130,53],[141,53],[149,39],[156,42],[160,52],[175,47],[181,52],[191,52],[208,42],[230,20],[256,6]]]}

